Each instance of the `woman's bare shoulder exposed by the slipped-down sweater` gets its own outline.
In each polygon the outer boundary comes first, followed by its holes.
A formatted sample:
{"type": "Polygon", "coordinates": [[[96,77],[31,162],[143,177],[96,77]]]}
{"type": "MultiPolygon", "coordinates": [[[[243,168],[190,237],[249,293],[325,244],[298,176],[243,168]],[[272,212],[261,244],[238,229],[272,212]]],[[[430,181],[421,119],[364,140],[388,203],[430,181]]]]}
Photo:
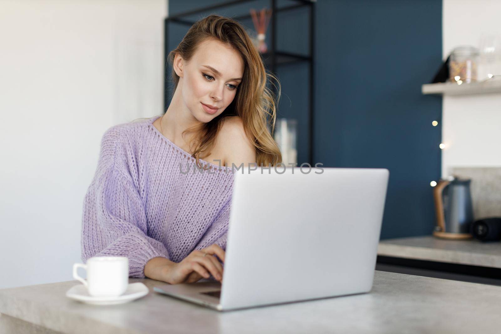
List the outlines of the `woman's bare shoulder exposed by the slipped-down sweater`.
{"type": "Polygon", "coordinates": [[[223,119],[223,124],[218,134],[218,142],[224,152],[224,163],[231,167],[234,163],[239,166],[243,163],[256,163],[256,149],[245,135],[243,121],[239,116],[228,116],[223,119]]]}

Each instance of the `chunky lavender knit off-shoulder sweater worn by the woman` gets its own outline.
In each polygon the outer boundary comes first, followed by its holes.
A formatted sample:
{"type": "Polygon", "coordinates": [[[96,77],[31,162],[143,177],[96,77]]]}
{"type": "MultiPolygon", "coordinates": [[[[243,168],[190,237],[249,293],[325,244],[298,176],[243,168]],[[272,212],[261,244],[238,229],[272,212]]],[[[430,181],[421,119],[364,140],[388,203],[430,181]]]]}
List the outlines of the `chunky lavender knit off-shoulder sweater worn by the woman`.
{"type": "Polygon", "coordinates": [[[180,262],[213,243],[226,248],[233,170],[195,159],[147,120],[110,127],[83,203],[82,261],[126,256],[129,276],[162,256],[180,262]],[[187,171],[187,173],[186,173],[187,171]]]}

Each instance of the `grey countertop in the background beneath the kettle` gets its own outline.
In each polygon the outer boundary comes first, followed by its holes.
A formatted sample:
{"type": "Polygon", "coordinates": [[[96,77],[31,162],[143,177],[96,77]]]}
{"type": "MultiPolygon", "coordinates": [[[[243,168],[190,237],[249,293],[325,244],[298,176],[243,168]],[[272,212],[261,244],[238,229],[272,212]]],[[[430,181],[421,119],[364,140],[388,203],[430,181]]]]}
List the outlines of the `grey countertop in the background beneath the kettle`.
{"type": "Polygon", "coordinates": [[[385,239],[378,255],[501,268],[501,242],[446,240],[433,236],[385,239]]]}

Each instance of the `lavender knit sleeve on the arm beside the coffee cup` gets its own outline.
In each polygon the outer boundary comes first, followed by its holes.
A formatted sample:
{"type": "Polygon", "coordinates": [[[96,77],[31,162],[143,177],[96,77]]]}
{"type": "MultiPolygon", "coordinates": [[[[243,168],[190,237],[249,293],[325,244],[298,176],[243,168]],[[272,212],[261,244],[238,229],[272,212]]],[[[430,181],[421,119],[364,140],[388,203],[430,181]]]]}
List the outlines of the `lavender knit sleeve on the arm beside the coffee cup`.
{"type": "MultiPolygon", "coordinates": [[[[103,159],[101,155],[100,161],[103,159]]],[[[96,173],[85,195],[82,260],[85,263],[92,256],[126,256],[129,277],[145,278],[145,264],[158,256],[169,259],[169,254],[163,243],[147,235],[146,212],[132,179],[115,164],[109,166],[96,173]]]]}

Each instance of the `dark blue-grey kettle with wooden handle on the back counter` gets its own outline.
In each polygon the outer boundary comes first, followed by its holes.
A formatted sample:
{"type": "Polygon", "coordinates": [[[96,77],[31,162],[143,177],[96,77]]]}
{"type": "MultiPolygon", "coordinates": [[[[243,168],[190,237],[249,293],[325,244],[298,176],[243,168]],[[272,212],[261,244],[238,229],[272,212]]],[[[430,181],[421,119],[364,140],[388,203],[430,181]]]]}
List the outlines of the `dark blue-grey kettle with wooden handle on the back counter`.
{"type": "Polygon", "coordinates": [[[440,179],[433,188],[436,226],[433,235],[446,239],[468,239],[473,222],[471,179],[440,179]]]}

